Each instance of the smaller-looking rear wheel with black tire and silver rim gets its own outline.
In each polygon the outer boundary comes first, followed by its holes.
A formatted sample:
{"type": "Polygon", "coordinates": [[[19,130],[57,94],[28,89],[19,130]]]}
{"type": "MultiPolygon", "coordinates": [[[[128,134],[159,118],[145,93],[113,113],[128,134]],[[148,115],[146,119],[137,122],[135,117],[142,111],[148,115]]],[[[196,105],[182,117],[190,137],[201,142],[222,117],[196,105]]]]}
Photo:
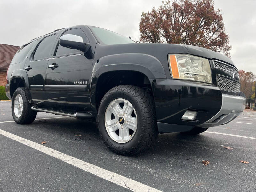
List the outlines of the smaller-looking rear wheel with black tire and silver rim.
{"type": "Polygon", "coordinates": [[[28,93],[24,87],[17,88],[13,93],[12,117],[17,124],[31,124],[36,118],[37,112],[31,110],[27,94],[28,93]],[[22,99],[22,101],[19,99],[22,99]],[[23,106],[22,110],[21,106],[23,106]]]}

